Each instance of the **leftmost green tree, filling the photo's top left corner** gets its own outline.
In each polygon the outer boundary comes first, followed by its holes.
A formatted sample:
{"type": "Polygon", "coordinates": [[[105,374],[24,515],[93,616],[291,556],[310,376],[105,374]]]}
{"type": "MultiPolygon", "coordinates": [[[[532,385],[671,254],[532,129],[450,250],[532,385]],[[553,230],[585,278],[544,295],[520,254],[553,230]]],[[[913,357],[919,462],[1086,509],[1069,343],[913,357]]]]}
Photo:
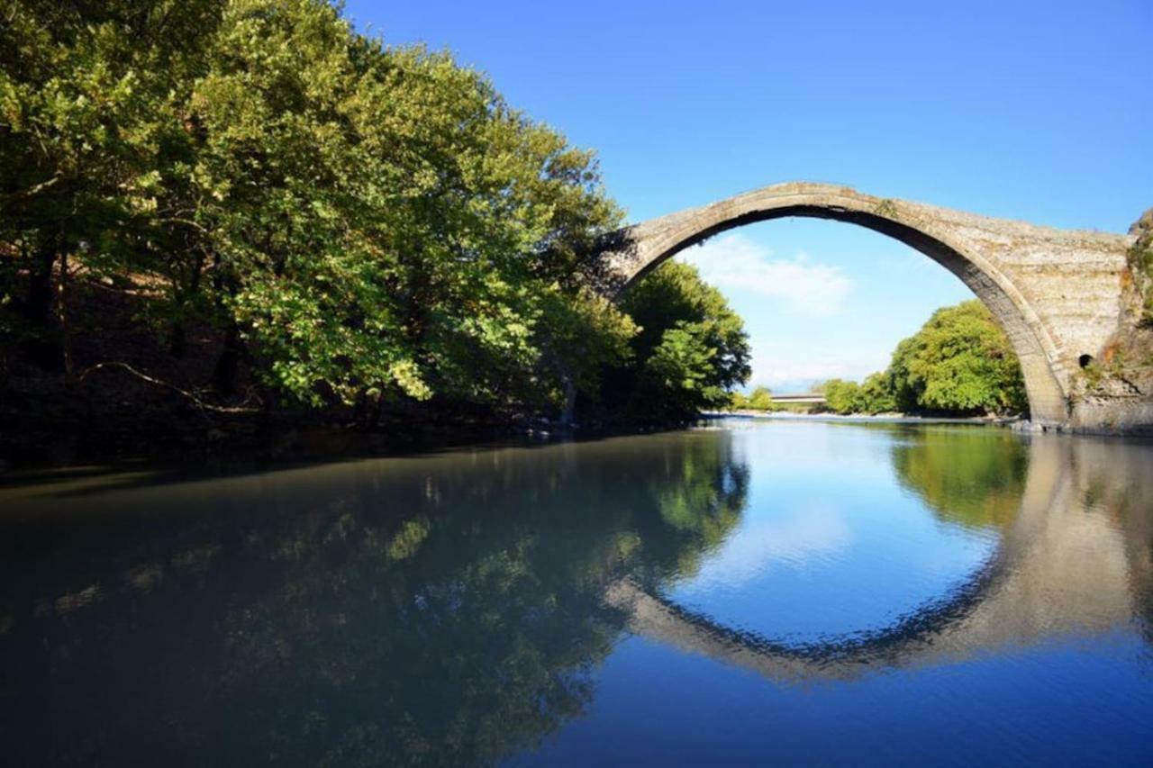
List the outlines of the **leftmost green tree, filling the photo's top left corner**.
{"type": "Polygon", "coordinates": [[[0,294],[42,366],[70,372],[77,269],[122,286],[129,270],[171,272],[178,244],[194,250],[160,193],[223,6],[0,1],[0,294]]]}

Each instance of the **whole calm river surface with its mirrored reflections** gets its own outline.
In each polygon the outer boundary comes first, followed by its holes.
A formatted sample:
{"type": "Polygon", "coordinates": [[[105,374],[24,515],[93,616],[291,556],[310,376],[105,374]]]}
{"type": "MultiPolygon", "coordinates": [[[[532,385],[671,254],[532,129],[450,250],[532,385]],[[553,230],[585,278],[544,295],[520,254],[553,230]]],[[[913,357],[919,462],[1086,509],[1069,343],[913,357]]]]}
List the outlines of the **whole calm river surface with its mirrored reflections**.
{"type": "Polygon", "coordinates": [[[1153,763],[1153,445],[656,436],[0,487],[5,765],[1153,763]]]}

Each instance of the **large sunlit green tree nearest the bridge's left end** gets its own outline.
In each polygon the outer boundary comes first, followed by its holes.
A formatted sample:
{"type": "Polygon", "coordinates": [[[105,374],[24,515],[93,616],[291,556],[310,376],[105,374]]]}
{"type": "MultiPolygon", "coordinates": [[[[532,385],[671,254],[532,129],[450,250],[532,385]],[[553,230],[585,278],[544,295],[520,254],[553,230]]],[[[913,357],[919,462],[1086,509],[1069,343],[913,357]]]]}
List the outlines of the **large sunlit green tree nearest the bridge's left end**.
{"type": "Polygon", "coordinates": [[[588,381],[549,344],[574,313],[619,349],[627,323],[578,289],[563,244],[617,224],[588,153],[447,55],[385,50],[327,3],[235,0],[223,29],[194,96],[195,179],[271,383],[314,405],[500,406],[588,381]]]}

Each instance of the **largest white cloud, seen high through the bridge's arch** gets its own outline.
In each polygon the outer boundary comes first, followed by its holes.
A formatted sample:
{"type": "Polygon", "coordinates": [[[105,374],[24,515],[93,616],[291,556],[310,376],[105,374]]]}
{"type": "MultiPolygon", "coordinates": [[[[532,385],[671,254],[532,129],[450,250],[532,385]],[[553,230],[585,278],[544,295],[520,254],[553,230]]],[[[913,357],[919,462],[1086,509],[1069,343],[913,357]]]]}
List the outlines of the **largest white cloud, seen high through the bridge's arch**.
{"type": "Polygon", "coordinates": [[[811,263],[805,254],[774,258],[770,249],[740,234],[715,238],[687,249],[683,257],[707,283],[778,299],[798,315],[835,315],[852,288],[841,268],[811,263]]]}

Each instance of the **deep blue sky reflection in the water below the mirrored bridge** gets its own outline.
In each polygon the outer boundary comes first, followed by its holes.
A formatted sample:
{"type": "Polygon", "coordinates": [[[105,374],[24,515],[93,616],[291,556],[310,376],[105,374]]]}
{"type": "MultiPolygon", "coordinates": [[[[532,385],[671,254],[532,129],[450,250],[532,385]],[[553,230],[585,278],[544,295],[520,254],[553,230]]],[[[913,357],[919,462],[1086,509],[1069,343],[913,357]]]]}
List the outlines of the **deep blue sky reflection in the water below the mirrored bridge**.
{"type": "Polygon", "coordinates": [[[1115,635],[770,685],[635,637],[600,670],[588,716],[507,765],[1147,766],[1151,682],[1132,675],[1146,648],[1115,635]]]}

